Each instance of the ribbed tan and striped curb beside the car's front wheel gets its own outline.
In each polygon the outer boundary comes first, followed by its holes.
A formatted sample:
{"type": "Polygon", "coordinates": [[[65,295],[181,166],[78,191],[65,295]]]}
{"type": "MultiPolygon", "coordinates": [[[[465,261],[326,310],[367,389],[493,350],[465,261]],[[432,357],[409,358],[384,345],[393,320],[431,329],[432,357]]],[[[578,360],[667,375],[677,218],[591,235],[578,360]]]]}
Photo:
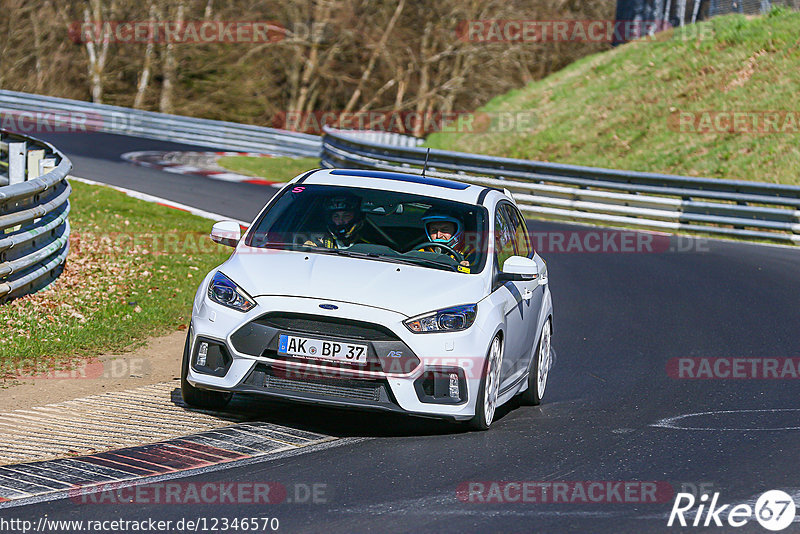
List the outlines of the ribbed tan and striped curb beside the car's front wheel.
{"type": "Polygon", "coordinates": [[[257,413],[246,400],[241,413],[192,410],[175,389],[164,382],[0,414],[0,508],[103,484],[180,478],[336,440],[253,421],[257,413]]]}

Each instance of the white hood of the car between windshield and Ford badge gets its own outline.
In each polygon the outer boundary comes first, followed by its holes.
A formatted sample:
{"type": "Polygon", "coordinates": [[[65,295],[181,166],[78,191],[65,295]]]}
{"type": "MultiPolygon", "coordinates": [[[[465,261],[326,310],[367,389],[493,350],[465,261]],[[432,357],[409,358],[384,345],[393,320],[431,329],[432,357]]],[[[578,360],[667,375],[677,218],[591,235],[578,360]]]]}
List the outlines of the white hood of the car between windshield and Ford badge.
{"type": "Polygon", "coordinates": [[[480,275],[274,249],[240,247],[219,270],[253,297],[349,302],[407,317],[476,303],[487,292],[480,275]]]}

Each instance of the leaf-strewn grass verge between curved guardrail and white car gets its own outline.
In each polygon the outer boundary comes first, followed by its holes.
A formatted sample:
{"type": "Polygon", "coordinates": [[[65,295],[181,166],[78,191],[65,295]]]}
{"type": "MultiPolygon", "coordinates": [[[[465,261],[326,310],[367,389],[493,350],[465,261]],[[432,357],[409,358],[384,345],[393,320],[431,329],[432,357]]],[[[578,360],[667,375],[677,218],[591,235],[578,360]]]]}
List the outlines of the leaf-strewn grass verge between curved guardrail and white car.
{"type": "Polygon", "coordinates": [[[69,368],[185,329],[198,284],[230,255],[208,239],[207,219],[71,185],[64,272],[46,290],[0,306],[3,377],[69,368]]]}

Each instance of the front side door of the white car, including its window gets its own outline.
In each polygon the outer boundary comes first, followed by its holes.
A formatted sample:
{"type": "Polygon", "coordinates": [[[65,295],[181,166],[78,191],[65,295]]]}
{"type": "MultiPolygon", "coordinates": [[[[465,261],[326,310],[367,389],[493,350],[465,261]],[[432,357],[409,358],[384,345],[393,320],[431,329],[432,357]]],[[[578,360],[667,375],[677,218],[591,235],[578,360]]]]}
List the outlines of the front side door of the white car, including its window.
{"type": "MultiPolygon", "coordinates": [[[[514,207],[507,202],[501,202],[495,209],[495,269],[500,272],[503,263],[511,256],[520,255],[520,245],[517,242],[517,227],[514,225],[511,211],[514,207]]],[[[527,243],[527,236],[526,242],[527,243]]],[[[505,350],[503,365],[501,367],[501,392],[513,386],[527,371],[529,351],[526,350],[526,340],[529,337],[527,330],[530,328],[531,298],[535,287],[533,281],[509,281],[498,283],[495,286],[496,298],[503,307],[506,318],[505,350]]],[[[535,319],[534,319],[535,321],[535,319]]]]}

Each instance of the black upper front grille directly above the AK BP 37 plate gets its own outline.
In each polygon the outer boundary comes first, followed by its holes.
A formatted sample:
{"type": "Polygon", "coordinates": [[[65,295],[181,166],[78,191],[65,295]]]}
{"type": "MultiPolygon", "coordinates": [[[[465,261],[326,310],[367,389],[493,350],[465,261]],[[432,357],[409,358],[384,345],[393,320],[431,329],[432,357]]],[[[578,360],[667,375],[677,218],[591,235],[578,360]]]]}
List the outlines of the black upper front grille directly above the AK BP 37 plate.
{"type": "Polygon", "coordinates": [[[318,336],[339,336],[365,341],[399,341],[399,338],[385,326],[324,315],[268,313],[253,322],[278,330],[292,330],[318,336]]]}

